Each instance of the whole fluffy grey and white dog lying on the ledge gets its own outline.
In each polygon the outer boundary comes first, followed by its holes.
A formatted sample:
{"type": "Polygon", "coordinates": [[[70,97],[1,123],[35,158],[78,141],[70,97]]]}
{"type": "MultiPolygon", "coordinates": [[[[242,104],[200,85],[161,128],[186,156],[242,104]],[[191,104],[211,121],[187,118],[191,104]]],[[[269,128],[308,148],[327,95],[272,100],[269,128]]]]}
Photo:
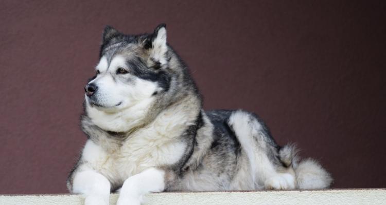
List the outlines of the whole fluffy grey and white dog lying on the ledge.
{"type": "Polygon", "coordinates": [[[126,35],[107,26],[81,117],[88,136],[67,187],[85,204],[140,204],[149,192],[323,189],[332,178],[294,146],[280,147],[242,110],[202,109],[166,26],[126,35]]]}

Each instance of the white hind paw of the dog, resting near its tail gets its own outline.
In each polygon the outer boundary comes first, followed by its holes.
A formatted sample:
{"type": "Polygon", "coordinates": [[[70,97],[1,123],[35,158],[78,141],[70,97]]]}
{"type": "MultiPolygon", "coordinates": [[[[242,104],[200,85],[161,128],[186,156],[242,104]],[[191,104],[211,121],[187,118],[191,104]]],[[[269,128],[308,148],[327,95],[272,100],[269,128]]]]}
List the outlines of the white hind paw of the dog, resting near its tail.
{"type": "Polygon", "coordinates": [[[288,173],[279,173],[268,178],[264,186],[266,189],[295,189],[295,178],[288,173]]]}

